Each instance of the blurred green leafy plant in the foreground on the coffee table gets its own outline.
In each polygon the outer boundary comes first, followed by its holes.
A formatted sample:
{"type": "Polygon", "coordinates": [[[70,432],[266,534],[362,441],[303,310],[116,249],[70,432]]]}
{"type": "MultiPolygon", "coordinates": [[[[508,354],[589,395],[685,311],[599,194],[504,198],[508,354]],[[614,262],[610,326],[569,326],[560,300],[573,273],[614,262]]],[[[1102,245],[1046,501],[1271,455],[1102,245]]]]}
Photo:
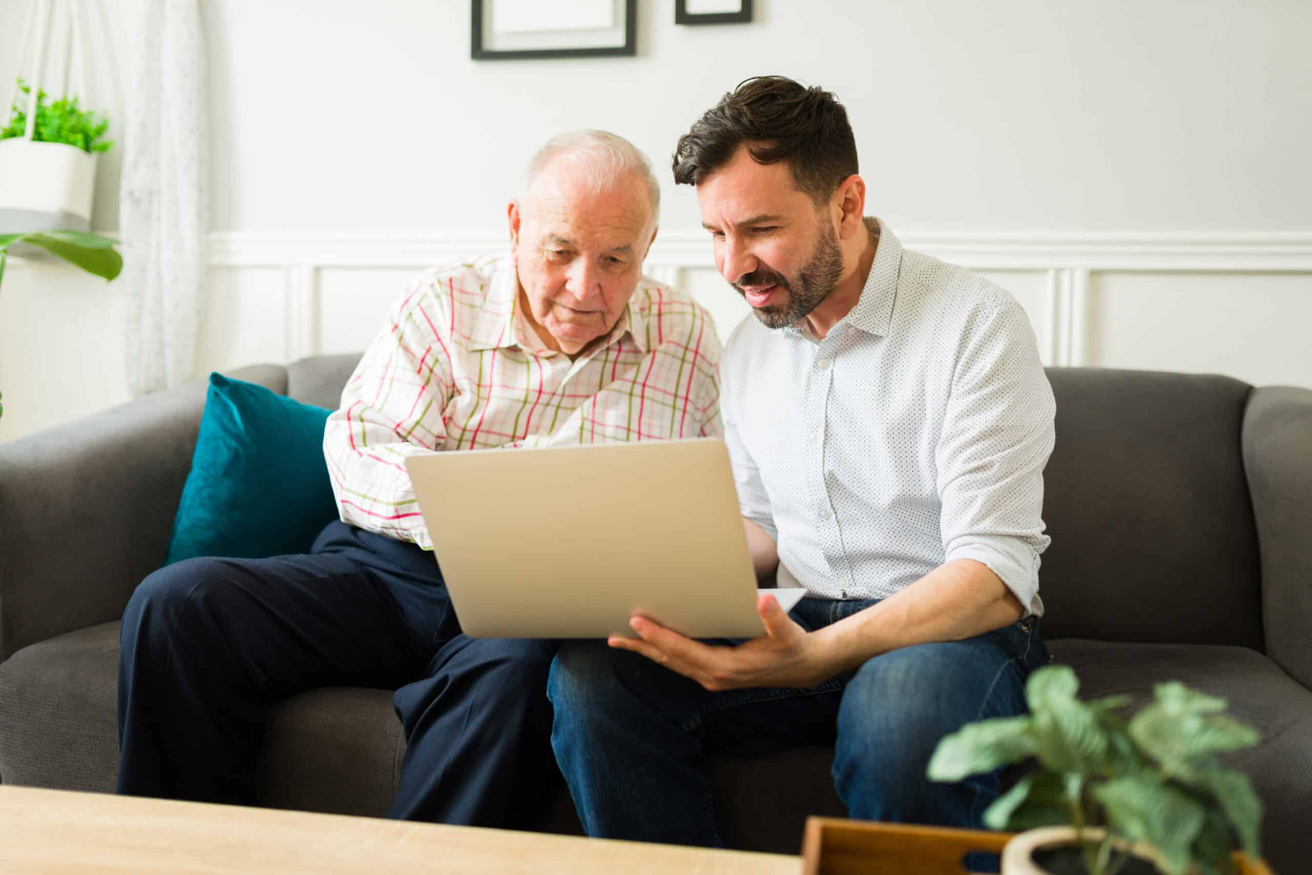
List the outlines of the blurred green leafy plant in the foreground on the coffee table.
{"type": "Polygon", "coordinates": [[[1126,720],[1118,708],[1130,697],[1081,702],[1078,689],[1067,666],[1038,669],[1025,687],[1029,716],[981,720],[945,737],[929,777],[954,782],[1033,758],[1035,767],[989,805],[984,823],[1073,825],[1089,875],[1115,872],[1128,858],[1118,849],[1132,842],[1149,846],[1168,875],[1232,871],[1236,847],[1260,858],[1262,804],[1248,775],[1216,758],[1260,736],[1221,714],[1224,699],[1158,683],[1155,701],[1126,720]]]}

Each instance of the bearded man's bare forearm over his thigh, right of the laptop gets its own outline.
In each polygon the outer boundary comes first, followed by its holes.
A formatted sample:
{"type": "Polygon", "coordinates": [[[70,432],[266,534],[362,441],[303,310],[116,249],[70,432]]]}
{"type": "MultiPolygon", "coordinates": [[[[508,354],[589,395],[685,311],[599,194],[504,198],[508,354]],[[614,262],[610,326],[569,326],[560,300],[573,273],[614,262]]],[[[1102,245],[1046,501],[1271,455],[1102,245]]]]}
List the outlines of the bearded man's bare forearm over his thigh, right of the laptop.
{"type": "Polygon", "coordinates": [[[815,635],[825,674],[833,677],[900,647],[974,638],[1023,615],[1021,602],[987,565],[956,559],[815,635]]]}

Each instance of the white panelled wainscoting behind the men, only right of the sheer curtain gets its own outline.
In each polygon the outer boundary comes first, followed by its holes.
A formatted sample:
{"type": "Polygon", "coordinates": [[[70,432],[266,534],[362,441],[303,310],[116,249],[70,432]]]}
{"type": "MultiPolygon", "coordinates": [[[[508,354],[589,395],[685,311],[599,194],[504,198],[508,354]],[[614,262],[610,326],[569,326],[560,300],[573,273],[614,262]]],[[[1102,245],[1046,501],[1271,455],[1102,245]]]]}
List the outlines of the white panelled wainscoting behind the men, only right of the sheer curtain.
{"type": "MultiPolygon", "coordinates": [[[[901,240],[1015,295],[1044,363],[1312,386],[1312,232],[934,232],[901,240]]],[[[408,275],[504,248],[504,232],[215,232],[197,370],[363,349],[408,275]]],[[[647,272],[685,285],[711,310],[722,337],[747,314],[715,273],[702,231],[661,232],[647,272]]]]}

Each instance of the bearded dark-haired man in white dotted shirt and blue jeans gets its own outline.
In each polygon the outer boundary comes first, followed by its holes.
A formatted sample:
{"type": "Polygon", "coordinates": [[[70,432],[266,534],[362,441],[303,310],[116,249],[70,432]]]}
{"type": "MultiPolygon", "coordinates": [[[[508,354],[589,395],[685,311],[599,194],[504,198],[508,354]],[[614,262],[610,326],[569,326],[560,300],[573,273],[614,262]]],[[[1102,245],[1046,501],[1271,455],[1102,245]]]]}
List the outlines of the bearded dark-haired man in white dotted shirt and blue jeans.
{"type": "MultiPolygon", "coordinates": [[[[765,635],[565,644],[552,744],[592,836],[718,845],[697,758],[834,744],[854,817],[980,824],[997,774],[935,784],[938,740],[1021,714],[1039,639],[1054,400],[1015,300],[863,218],[833,94],[748,80],[684,135],[715,264],[756,319],[726,345],[724,428],[765,635]],[[614,775],[628,775],[619,784],[614,775]]],[[[799,824],[800,828],[800,824],[799,824]]]]}

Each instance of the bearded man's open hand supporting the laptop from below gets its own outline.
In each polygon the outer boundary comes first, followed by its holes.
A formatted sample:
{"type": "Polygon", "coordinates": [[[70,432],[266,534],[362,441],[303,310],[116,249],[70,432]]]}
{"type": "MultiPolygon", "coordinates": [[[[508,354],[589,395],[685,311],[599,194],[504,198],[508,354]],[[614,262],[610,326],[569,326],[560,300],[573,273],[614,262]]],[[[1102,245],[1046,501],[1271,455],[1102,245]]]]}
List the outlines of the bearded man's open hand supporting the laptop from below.
{"type": "Polygon", "coordinates": [[[834,674],[825,666],[821,643],[792,622],[774,596],[756,600],[765,635],[737,647],[712,647],[670,631],[646,617],[630,626],[642,638],[611,636],[611,647],[642,653],[693,678],[711,691],[752,686],[810,687],[834,674]]]}

